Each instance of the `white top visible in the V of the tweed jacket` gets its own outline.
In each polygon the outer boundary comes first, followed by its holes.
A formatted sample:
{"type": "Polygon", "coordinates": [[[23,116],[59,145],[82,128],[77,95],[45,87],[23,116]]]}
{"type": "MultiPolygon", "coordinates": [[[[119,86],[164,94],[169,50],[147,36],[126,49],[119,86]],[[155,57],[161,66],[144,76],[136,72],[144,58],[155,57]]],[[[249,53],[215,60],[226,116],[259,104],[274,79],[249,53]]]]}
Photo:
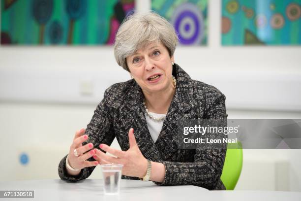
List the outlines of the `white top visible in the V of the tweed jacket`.
{"type": "MultiPolygon", "coordinates": [[[[166,114],[157,114],[157,113],[153,113],[153,112],[150,112],[150,114],[155,118],[161,118],[161,117],[164,117],[166,115],[166,114]]],[[[148,128],[149,128],[150,134],[151,134],[151,138],[152,138],[153,142],[156,142],[158,137],[159,137],[159,134],[162,130],[162,126],[163,126],[164,121],[159,121],[159,122],[153,121],[147,115],[147,113],[145,113],[145,118],[147,120],[147,125],[148,125],[148,128]]]]}

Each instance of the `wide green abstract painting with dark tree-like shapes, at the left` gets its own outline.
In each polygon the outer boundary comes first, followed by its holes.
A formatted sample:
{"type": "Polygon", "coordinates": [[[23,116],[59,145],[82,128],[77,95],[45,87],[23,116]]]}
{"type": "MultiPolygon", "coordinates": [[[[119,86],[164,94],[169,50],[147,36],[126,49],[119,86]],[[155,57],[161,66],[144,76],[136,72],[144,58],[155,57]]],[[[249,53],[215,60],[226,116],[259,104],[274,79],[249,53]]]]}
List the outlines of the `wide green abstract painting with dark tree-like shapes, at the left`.
{"type": "Polygon", "coordinates": [[[1,0],[1,44],[113,44],[134,0],[1,0]]]}

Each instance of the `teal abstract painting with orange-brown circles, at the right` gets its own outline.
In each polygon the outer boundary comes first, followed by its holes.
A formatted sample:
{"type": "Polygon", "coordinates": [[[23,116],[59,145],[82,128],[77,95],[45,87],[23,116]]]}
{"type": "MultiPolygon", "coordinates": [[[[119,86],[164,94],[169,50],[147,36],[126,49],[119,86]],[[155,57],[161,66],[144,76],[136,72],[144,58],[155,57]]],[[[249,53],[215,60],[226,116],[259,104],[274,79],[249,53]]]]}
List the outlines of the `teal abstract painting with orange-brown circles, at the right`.
{"type": "Polygon", "coordinates": [[[301,0],[222,0],[222,45],[301,45],[301,0]]]}

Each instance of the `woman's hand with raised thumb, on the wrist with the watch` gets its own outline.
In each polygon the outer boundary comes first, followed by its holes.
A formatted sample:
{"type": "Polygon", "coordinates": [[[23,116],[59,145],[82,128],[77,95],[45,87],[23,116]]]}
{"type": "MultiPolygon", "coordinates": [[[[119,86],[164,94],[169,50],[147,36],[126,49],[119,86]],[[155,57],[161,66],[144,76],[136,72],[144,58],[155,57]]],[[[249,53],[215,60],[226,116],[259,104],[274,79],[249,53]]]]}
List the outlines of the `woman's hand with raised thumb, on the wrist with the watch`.
{"type": "Polygon", "coordinates": [[[126,176],[144,177],[147,171],[148,162],[142,155],[135,136],[134,129],[128,131],[129,149],[127,151],[121,151],[114,149],[106,144],[100,144],[99,147],[114,156],[109,156],[98,149],[95,150],[93,158],[99,162],[99,164],[122,164],[122,174],[126,176]]]}

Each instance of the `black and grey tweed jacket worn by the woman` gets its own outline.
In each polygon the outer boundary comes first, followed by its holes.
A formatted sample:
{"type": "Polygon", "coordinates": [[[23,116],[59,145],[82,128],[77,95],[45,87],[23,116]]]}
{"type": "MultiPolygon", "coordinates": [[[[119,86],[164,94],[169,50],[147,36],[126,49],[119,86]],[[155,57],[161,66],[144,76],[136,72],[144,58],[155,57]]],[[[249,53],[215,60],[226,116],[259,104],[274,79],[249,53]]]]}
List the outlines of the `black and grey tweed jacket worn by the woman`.
{"type": "MultiPolygon", "coordinates": [[[[176,93],[168,109],[162,130],[153,142],[148,130],[143,92],[135,80],[109,87],[104,99],[94,111],[86,134],[95,148],[111,145],[116,137],[121,150],[129,149],[128,130],[134,128],[137,144],[145,158],[165,165],[165,179],[157,185],[196,185],[209,190],[225,190],[220,180],[226,149],[178,149],[177,122],[191,119],[226,119],[225,96],[215,87],[192,80],[177,64],[173,67],[177,79],[176,93]]],[[[94,167],[83,168],[78,176],[68,175],[66,156],[60,161],[59,175],[63,180],[78,181],[90,176],[94,167]]],[[[94,161],[93,158],[89,159],[94,161]]],[[[138,179],[122,175],[122,179],[138,179]]]]}

